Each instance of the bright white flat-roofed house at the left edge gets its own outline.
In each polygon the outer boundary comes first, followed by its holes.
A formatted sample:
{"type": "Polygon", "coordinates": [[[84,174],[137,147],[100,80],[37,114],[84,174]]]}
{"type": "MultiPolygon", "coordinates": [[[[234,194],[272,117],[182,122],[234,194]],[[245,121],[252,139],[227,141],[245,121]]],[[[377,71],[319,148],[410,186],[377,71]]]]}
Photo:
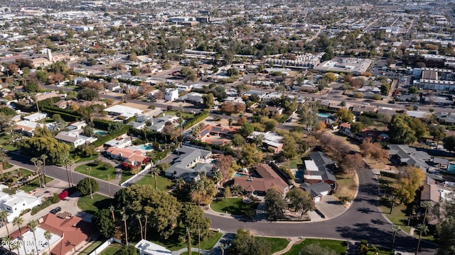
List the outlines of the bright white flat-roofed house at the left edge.
{"type": "Polygon", "coordinates": [[[19,216],[23,210],[31,209],[36,205],[41,205],[41,198],[28,195],[23,191],[18,191],[14,195],[8,195],[3,192],[4,185],[0,186],[0,209],[9,212],[6,217],[7,222],[11,222],[15,217],[19,216]]]}

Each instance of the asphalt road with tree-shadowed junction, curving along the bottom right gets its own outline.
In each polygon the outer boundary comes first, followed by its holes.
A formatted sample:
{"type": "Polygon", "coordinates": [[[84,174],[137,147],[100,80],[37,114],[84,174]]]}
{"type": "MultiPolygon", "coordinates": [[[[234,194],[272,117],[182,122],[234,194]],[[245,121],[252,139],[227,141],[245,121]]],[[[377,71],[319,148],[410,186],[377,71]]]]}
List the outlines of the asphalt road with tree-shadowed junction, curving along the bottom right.
{"type": "MultiPolygon", "coordinates": [[[[236,232],[237,229],[250,229],[252,234],[272,237],[319,237],[368,240],[369,244],[390,246],[392,227],[378,209],[378,183],[370,170],[360,171],[359,192],[350,208],[332,220],[313,223],[296,222],[241,222],[229,217],[206,214],[215,229],[236,232]]],[[[397,235],[395,249],[415,251],[417,239],[406,234],[397,235]]],[[[419,254],[434,254],[434,244],[422,241],[419,254]]]]}

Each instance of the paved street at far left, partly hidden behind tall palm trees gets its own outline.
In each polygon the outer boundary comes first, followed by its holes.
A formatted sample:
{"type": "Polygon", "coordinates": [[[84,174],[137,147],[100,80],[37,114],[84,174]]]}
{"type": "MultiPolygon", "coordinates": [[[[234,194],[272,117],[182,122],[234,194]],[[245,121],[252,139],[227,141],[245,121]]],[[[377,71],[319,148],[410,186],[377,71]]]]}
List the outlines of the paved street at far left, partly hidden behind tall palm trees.
{"type": "MultiPolygon", "coordinates": [[[[8,156],[9,156],[9,161],[11,162],[11,164],[15,164],[15,165],[23,167],[24,169],[30,169],[31,171],[33,171],[34,166],[30,162],[30,158],[25,157],[21,154],[13,153],[13,152],[8,152],[8,156]]],[[[54,179],[68,181],[66,169],[63,167],[45,166],[45,174],[54,179]]],[[[77,173],[76,171],[73,171],[73,181],[75,184],[77,184],[80,180],[82,180],[86,177],[88,177],[88,176],[85,174],[80,174],[80,173],[77,173]]],[[[117,191],[119,191],[120,188],[122,188],[119,185],[112,183],[112,182],[109,185],[109,183],[107,181],[103,181],[101,179],[97,179],[97,181],[98,181],[98,183],[100,183],[100,191],[98,191],[98,192],[102,193],[106,196],[109,196],[109,186],[110,186],[110,194],[112,196],[114,196],[114,194],[117,191]]]]}

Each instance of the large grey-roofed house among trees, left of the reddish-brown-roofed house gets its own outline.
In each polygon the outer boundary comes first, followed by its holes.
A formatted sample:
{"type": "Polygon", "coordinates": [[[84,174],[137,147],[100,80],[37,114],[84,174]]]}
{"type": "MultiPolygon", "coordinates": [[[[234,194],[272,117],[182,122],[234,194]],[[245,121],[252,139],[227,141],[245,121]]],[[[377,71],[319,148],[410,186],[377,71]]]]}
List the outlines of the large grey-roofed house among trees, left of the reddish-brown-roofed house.
{"type": "Polygon", "coordinates": [[[213,166],[203,163],[203,160],[212,156],[212,152],[183,145],[175,153],[178,154],[178,157],[171,162],[171,167],[164,171],[166,176],[193,181],[201,171],[208,176],[212,175],[213,166]]]}

